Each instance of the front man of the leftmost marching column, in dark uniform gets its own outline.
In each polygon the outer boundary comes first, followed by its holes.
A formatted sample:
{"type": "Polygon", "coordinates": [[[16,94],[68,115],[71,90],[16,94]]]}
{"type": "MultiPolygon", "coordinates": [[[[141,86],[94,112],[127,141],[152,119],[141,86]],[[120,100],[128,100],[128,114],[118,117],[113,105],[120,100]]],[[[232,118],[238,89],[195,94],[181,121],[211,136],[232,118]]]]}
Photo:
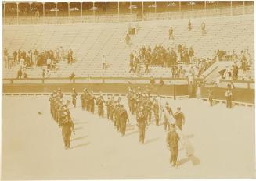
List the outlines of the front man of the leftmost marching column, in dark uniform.
{"type": "Polygon", "coordinates": [[[65,144],[65,149],[70,149],[71,132],[74,133],[74,123],[67,112],[64,112],[64,119],[62,122],[62,135],[65,144]]]}

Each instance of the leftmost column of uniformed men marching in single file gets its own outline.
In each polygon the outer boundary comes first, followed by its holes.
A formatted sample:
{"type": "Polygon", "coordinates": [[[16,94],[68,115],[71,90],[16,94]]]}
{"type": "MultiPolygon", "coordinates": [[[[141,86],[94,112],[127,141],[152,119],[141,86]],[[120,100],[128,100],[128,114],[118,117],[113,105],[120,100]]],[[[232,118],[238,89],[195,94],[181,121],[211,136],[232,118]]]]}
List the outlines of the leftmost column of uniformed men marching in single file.
{"type": "Polygon", "coordinates": [[[70,137],[74,132],[74,123],[70,116],[70,110],[67,108],[69,101],[63,101],[63,92],[59,88],[58,91],[53,91],[49,98],[50,112],[52,118],[62,128],[62,136],[65,149],[70,149],[70,137]]]}

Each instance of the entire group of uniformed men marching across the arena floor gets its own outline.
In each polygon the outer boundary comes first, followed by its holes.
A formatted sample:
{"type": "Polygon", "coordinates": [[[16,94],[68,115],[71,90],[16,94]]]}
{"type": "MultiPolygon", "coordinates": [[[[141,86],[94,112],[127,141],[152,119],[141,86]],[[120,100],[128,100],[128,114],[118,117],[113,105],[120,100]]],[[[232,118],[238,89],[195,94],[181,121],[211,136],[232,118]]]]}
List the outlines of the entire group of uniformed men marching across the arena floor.
{"type": "MultiPolygon", "coordinates": [[[[99,92],[99,96],[95,96],[93,91],[85,88],[80,95],[81,98],[81,109],[83,111],[91,112],[94,114],[95,105],[98,109],[99,118],[106,118],[113,122],[115,128],[121,133],[121,136],[125,135],[127,123],[130,122],[128,118],[128,112],[131,116],[135,116],[136,126],[139,129],[139,143],[145,143],[146,126],[149,126],[154,120],[157,126],[160,125],[160,120],[164,120],[164,130],[168,131],[167,144],[171,151],[171,165],[177,166],[178,158],[178,133],[176,129],[182,131],[182,126],[185,122],[185,116],[181,112],[181,108],[178,107],[176,112],[172,112],[171,106],[168,102],[162,105],[160,98],[151,98],[150,87],[147,87],[142,91],[142,88],[128,87],[128,111],[122,104],[122,98],[115,99],[114,96],[110,96],[107,100],[104,100],[103,94],[99,92]],[[105,107],[105,108],[104,108],[105,107]],[[106,110],[106,114],[104,112],[106,110]],[[172,120],[173,122],[171,122],[172,120]]],[[[70,149],[70,137],[71,133],[74,132],[74,123],[70,116],[70,111],[67,108],[70,102],[77,105],[78,93],[73,88],[71,93],[72,101],[63,101],[63,93],[60,89],[53,91],[50,95],[50,112],[52,118],[58,123],[59,127],[62,128],[63,140],[65,149],[70,149]]]]}

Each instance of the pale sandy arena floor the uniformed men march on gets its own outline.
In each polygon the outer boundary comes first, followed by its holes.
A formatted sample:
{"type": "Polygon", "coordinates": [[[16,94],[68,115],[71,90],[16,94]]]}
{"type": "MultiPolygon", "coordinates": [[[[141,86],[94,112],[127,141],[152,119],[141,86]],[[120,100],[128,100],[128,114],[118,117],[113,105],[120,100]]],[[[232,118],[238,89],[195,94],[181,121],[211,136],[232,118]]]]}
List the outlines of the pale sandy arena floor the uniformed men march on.
{"type": "Polygon", "coordinates": [[[182,106],[184,132],[195,150],[187,158],[179,147],[176,169],[169,164],[164,125],[151,123],[146,143],[141,145],[134,116],[130,116],[127,135],[121,137],[112,122],[83,112],[79,99],[78,108],[70,109],[76,134],[71,138],[71,150],[64,150],[48,100],[49,96],[3,97],[2,179],[254,176],[254,108],[210,107],[196,99],[169,101],[174,110],[182,106]]]}

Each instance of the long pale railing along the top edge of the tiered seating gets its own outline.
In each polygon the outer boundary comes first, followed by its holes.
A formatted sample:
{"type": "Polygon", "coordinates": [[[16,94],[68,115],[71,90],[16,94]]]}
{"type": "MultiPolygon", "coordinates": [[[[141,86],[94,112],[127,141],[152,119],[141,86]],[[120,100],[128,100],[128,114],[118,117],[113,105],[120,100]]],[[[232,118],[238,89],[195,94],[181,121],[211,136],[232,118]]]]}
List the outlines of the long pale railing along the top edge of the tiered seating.
{"type": "Polygon", "coordinates": [[[4,24],[73,24],[73,23],[112,23],[112,22],[133,22],[141,20],[170,20],[200,18],[209,16],[236,16],[253,14],[254,6],[237,6],[220,9],[198,9],[177,12],[151,12],[144,13],[139,17],[136,13],[113,14],[113,15],[88,15],[88,16],[12,16],[4,17],[4,24]]]}

